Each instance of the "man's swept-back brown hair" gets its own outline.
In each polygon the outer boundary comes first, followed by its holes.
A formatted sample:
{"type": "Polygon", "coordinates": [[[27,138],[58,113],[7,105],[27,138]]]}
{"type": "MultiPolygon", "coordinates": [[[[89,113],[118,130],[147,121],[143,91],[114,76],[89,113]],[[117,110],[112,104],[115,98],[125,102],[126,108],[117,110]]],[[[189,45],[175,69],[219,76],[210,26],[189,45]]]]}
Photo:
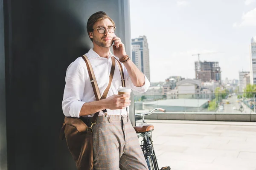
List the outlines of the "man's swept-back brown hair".
{"type": "MultiPolygon", "coordinates": [[[[86,26],[88,35],[89,35],[89,32],[93,32],[93,26],[97,21],[104,20],[107,18],[111,21],[113,26],[116,26],[114,21],[105,12],[99,11],[99,12],[92,14],[90,16],[90,18],[88,19],[87,26],[86,26]]],[[[89,35],[89,37],[90,37],[90,35],[89,35]]],[[[92,38],[90,38],[90,40],[93,41],[92,38]]]]}

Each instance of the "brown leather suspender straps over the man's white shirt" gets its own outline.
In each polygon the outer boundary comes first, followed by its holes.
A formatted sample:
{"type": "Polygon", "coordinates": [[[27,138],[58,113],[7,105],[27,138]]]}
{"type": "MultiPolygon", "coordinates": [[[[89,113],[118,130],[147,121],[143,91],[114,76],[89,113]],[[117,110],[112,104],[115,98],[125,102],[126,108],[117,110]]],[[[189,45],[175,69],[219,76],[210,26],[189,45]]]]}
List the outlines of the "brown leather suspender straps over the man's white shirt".
{"type": "MultiPolygon", "coordinates": [[[[105,89],[103,95],[101,96],[100,91],[99,91],[99,86],[98,86],[98,83],[96,81],[95,74],[93,72],[93,68],[92,68],[92,65],[90,64],[90,61],[89,61],[89,59],[86,55],[83,55],[82,58],[84,59],[84,61],[86,63],[87,70],[88,70],[88,73],[89,73],[90,81],[91,81],[92,86],[93,86],[93,92],[94,92],[94,95],[96,97],[96,100],[105,99],[107,97],[107,94],[108,94],[108,91],[110,89],[111,82],[112,82],[112,79],[113,79],[116,62],[117,62],[117,65],[118,65],[118,68],[119,68],[119,71],[120,71],[120,75],[121,75],[122,87],[125,87],[125,77],[124,77],[124,71],[123,71],[122,65],[118,61],[118,59],[116,59],[114,56],[112,56],[111,57],[112,66],[111,66],[111,71],[110,71],[110,75],[109,75],[108,86],[105,89]],[[115,60],[116,60],[116,62],[115,62],[115,60]]],[[[103,110],[103,112],[106,112],[106,110],[103,110]]],[[[95,113],[91,122],[96,123],[96,119],[97,119],[98,116],[99,116],[99,112],[95,113]]]]}

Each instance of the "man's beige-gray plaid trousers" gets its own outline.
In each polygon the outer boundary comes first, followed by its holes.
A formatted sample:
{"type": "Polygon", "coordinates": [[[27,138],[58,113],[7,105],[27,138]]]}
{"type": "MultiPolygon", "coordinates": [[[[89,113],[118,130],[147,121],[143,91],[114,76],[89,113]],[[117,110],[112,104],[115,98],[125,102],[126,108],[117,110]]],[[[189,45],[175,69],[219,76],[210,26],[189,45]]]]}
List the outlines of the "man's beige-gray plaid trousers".
{"type": "Polygon", "coordinates": [[[99,116],[93,125],[94,170],[148,170],[128,115],[99,116]]]}

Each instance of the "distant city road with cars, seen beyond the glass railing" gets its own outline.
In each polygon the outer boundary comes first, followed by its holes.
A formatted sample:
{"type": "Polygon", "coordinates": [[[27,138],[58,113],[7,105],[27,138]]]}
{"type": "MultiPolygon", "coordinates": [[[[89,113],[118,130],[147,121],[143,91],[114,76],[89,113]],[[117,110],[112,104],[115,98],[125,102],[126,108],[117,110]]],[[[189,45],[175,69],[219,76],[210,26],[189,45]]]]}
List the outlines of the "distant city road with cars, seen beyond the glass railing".
{"type": "MultiPolygon", "coordinates": [[[[224,103],[224,111],[222,111],[222,112],[224,112],[224,113],[241,113],[239,111],[239,102],[236,102],[237,101],[237,96],[231,96],[231,97],[228,97],[227,99],[223,99],[222,101],[224,103]],[[229,100],[230,104],[226,104],[226,102],[225,102],[226,100],[229,100]],[[236,110],[233,110],[233,107],[236,107],[236,110]]],[[[242,103],[242,106],[244,108],[244,111],[242,113],[253,112],[253,111],[250,110],[250,108],[248,108],[243,103],[242,103]]]]}

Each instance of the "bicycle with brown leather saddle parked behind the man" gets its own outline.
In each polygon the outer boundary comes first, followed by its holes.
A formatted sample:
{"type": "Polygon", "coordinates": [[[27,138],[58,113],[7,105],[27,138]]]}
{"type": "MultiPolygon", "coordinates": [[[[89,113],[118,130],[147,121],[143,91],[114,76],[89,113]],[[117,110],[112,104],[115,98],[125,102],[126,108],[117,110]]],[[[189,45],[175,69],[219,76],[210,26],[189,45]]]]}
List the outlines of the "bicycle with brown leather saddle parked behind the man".
{"type": "MultiPolygon", "coordinates": [[[[166,110],[162,108],[155,108],[148,113],[135,114],[136,117],[141,116],[143,121],[143,123],[141,123],[139,126],[135,126],[134,129],[137,133],[138,138],[140,137],[143,138],[143,140],[140,142],[140,147],[143,151],[149,170],[159,170],[159,167],[158,167],[157,157],[156,157],[154,147],[153,147],[153,142],[152,142],[152,131],[154,130],[154,126],[146,124],[144,116],[151,115],[155,111],[166,112],[166,110]]],[[[162,167],[160,170],[171,170],[171,168],[167,166],[167,167],[162,167]]]]}

